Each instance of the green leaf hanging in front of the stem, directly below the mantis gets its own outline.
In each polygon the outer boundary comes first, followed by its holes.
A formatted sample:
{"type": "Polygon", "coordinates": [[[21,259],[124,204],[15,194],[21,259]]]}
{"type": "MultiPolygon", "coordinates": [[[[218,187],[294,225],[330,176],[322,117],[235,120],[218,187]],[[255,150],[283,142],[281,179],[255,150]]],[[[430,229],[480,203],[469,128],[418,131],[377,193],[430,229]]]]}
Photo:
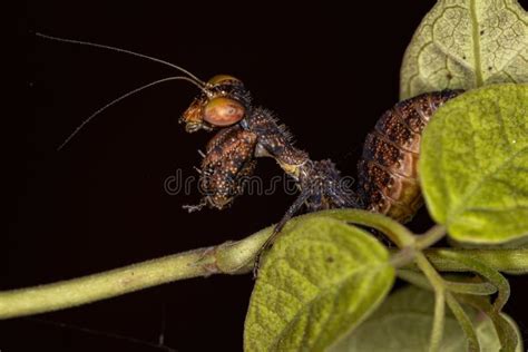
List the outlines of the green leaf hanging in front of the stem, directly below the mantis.
{"type": "Polygon", "coordinates": [[[371,234],[327,217],[299,223],[264,258],[244,350],[324,350],[362,322],[393,281],[389,253],[371,234]]]}

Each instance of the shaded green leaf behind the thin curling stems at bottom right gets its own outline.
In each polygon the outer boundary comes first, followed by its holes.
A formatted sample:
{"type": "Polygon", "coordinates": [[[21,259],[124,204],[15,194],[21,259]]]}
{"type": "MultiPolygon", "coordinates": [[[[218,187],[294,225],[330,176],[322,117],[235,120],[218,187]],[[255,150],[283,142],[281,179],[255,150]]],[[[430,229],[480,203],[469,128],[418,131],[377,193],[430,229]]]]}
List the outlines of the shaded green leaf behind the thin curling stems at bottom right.
{"type": "MultiPolygon", "coordinates": [[[[500,341],[491,319],[475,309],[463,307],[473,323],[481,350],[500,351],[500,341]]],[[[331,351],[428,351],[433,310],[433,293],[415,286],[398,290],[372,316],[342,339],[331,351]]],[[[508,321],[516,326],[511,319],[508,317],[508,321]]],[[[459,352],[466,351],[466,348],[467,339],[460,325],[454,316],[448,313],[440,351],[459,352]]],[[[521,352],[522,345],[518,345],[516,351],[521,352]]]]}

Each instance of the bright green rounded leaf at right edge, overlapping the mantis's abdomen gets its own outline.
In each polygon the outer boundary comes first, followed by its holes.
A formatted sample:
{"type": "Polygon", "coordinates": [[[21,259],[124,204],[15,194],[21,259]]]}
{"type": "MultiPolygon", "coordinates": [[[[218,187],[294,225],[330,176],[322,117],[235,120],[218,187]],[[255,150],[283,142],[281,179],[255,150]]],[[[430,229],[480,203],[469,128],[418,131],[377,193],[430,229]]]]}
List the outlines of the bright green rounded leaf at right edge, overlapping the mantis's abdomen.
{"type": "Polygon", "coordinates": [[[423,133],[419,172],[429,212],[454,239],[528,235],[528,85],[448,101],[423,133]]]}

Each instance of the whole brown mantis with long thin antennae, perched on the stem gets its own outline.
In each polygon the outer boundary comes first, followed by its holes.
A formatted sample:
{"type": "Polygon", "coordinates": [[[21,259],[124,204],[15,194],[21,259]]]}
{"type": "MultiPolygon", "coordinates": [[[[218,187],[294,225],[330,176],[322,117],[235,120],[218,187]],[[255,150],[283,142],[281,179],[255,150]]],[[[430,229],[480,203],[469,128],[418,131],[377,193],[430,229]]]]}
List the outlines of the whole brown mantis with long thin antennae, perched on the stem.
{"type": "MultiPolygon", "coordinates": [[[[167,80],[186,80],[201,90],[180,118],[187,133],[214,131],[198,169],[204,196],[197,205],[184,206],[189,212],[204,206],[223,209],[244,190],[243,179],[253,174],[256,159],[272,157],[293,178],[299,196],[275,225],[263,245],[263,253],[276,239],[286,222],[303,207],[307,212],[353,207],[385,214],[400,222],[409,221],[422,204],[418,183],[420,138],[434,111],[461,90],[422,94],[398,102],[383,114],[366,136],[358,165],[358,186],[352,188],[330,160],[312,160],[294,146],[292,135],[274,114],[255,107],[244,84],[232,76],[219,75],[202,81],[187,70],[133,51],[61,39],[37,33],[47,39],[99,47],[143,57],[170,66],[185,76],[160,79],[113,100],[88,117],[59,147],[63,147],[88,121],[107,107],[145,88],[167,80]]],[[[256,260],[255,272],[258,267],[256,260]]]]}

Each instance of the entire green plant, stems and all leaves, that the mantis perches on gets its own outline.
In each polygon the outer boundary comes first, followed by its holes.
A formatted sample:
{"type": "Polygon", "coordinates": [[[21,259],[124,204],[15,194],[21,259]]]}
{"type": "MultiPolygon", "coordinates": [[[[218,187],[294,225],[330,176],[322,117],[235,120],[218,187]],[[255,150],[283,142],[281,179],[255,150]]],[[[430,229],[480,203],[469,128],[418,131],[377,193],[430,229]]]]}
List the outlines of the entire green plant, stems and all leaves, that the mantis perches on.
{"type": "MultiPolygon", "coordinates": [[[[515,323],[501,313],[509,286],[500,272],[528,271],[527,14],[514,1],[447,3],[440,1],[417,31],[401,81],[402,98],[469,90],[442,107],[423,136],[421,185],[438,225],[417,236],[356,209],[293,219],[264,257],[247,314],[246,350],[522,349],[515,323]],[[378,229],[397,247],[351,224],[378,229]],[[453,247],[432,248],[447,233],[453,247]],[[446,275],[452,272],[465,275],[446,275]],[[389,295],[395,277],[423,290],[389,295]]],[[[3,292],[0,316],[69,307],[174,280],[247,273],[270,233],[3,292]]]]}

